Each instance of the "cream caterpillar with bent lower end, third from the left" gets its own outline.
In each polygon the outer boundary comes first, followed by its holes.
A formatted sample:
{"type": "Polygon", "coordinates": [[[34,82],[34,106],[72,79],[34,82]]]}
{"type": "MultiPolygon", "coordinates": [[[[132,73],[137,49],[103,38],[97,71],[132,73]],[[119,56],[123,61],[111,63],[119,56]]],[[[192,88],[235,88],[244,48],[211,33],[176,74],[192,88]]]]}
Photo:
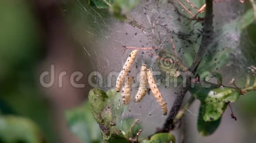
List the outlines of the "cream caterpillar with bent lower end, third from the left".
{"type": "Polygon", "coordinates": [[[139,89],[135,95],[134,102],[139,102],[147,93],[147,67],[142,64],[139,76],[139,89]]]}

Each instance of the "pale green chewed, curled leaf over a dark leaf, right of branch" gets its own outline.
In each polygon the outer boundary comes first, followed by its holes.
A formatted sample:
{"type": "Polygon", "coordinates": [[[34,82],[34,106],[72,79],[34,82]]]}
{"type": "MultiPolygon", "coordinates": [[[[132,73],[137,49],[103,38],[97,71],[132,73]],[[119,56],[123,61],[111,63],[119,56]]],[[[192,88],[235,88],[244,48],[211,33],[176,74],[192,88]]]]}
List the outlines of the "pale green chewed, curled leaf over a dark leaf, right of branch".
{"type": "Polygon", "coordinates": [[[218,120],[226,110],[229,102],[235,102],[240,92],[233,88],[213,89],[208,93],[203,106],[203,120],[206,122],[218,120]]]}

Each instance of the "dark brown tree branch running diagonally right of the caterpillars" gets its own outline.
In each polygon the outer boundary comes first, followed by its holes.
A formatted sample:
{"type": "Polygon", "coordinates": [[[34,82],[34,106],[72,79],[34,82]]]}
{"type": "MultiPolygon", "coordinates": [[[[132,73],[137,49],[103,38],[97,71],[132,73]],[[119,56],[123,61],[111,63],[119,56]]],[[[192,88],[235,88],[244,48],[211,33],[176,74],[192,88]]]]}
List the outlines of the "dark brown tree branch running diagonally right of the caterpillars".
{"type": "MultiPolygon", "coordinates": [[[[171,0],[169,0],[171,1],[171,0]]],[[[213,32],[213,8],[212,8],[212,0],[206,0],[206,14],[204,18],[204,27],[203,27],[203,37],[202,42],[200,44],[199,50],[197,51],[196,57],[193,61],[193,64],[189,68],[189,72],[194,75],[196,73],[196,70],[206,53],[207,47],[212,41],[212,35],[213,32]]],[[[173,120],[175,119],[177,113],[179,112],[181,108],[182,101],[185,97],[185,94],[187,93],[188,89],[191,86],[191,76],[187,76],[186,78],[186,86],[184,87],[183,84],[180,84],[178,87],[178,95],[176,100],[174,101],[173,107],[169,111],[169,116],[166,119],[166,122],[162,126],[162,129],[158,130],[156,133],[159,132],[169,132],[170,130],[174,129],[173,120]]]]}

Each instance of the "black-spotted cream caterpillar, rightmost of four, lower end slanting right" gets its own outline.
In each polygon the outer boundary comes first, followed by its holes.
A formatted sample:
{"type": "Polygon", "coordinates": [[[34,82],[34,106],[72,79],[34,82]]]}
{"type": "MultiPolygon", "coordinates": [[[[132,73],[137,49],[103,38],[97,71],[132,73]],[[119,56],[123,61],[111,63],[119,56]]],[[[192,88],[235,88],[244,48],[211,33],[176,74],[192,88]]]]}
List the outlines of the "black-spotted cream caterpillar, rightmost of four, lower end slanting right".
{"type": "Polygon", "coordinates": [[[158,104],[162,107],[163,114],[167,115],[166,103],[163,100],[162,95],[154,82],[153,74],[150,69],[147,69],[147,81],[155,99],[157,100],[158,104]]]}

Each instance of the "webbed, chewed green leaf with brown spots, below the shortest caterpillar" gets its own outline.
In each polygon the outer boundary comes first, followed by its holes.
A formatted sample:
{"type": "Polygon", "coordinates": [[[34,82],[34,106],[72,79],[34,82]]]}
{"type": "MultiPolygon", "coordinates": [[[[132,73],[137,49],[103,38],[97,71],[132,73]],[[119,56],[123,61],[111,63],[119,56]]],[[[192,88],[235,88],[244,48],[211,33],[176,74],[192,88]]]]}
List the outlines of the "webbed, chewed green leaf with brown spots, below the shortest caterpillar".
{"type": "Polygon", "coordinates": [[[122,132],[115,127],[125,110],[124,104],[120,104],[120,97],[120,93],[114,89],[105,93],[101,89],[94,88],[89,92],[90,108],[94,119],[100,126],[104,142],[124,139],[122,132]]]}

